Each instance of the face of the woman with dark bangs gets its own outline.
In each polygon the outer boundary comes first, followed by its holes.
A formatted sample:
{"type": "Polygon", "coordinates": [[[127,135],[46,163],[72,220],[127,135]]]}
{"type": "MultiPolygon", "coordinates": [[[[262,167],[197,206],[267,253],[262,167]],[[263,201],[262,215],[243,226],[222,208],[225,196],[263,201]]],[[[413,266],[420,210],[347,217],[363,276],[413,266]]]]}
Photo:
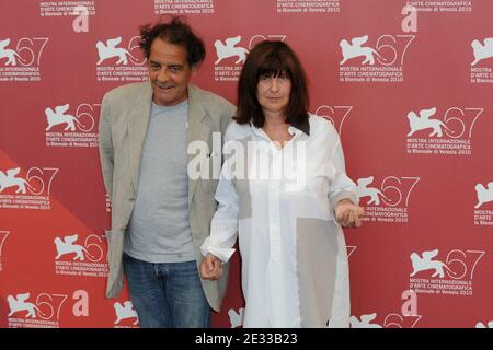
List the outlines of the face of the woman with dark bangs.
{"type": "Polygon", "coordinates": [[[264,114],[284,113],[289,103],[291,81],[282,72],[279,75],[261,75],[256,84],[256,98],[264,114]]]}

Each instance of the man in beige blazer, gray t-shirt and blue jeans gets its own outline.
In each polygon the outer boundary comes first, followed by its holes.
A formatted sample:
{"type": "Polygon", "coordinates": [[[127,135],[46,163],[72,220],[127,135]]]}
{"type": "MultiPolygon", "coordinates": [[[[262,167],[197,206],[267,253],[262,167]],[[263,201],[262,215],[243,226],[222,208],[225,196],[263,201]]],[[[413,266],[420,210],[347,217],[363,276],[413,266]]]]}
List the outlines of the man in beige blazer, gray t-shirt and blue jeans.
{"type": "MultiPolygon", "coordinates": [[[[198,275],[217,180],[188,176],[195,155],[187,148],[202,141],[211,150],[213,132],[223,135],[236,109],[190,83],[205,47],[186,23],[172,18],[140,35],[150,83],[114,89],[101,109],[100,156],[113,207],[106,296],[119,294],[125,272],[141,327],[209,327],[227,285],[226,266],[218,282],[198,275]]],[[[215,148],[200,164],[220,159],[215,148]]]]}

